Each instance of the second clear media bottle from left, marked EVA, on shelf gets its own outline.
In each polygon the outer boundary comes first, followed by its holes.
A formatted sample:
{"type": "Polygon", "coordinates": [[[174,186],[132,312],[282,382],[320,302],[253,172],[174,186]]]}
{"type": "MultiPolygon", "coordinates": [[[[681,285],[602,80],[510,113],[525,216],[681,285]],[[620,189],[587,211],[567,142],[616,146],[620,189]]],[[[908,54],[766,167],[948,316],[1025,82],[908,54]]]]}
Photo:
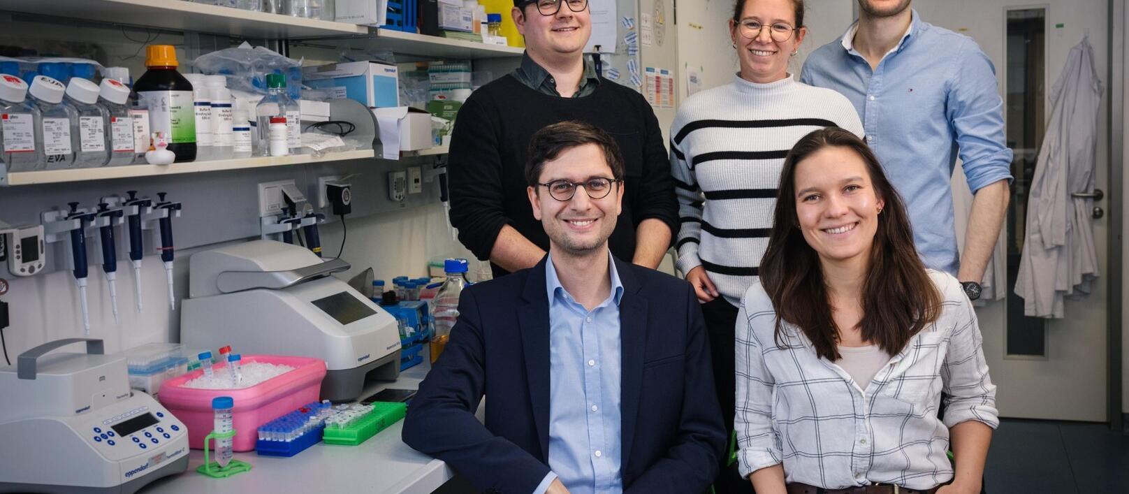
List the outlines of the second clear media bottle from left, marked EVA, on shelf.
{"type": "Polygon", "coordinates": [[[78,111],[63,102],[65,86],[46,76],[36,76],[27,94],[32,103],[40,108],[40,135],[43,140],[43,155],[40,155],[40,169],[62,169],[75,166],[75,152],[71,148],[71,121],[78,121],[78,111]]]}

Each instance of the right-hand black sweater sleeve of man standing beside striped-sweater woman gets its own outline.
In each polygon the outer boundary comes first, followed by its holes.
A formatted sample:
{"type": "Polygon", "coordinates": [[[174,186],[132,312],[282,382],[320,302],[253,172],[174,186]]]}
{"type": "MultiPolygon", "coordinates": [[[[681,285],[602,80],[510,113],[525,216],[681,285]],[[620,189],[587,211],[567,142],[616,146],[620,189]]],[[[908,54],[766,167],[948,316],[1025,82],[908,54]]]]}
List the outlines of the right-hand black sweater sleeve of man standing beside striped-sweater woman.
{"type": "Polygon", "coordinates": [[[647,99],[638,92],[629,92],[633,95],[644,122],[642,179],[639,180],[639,191],[631,204],[634,222],[639,224],[649,218],[662,220],[671,229],[673,242],[679,237],[679,200],[674,195],[671,160],[663,145],[663,130],[647,99]]]}

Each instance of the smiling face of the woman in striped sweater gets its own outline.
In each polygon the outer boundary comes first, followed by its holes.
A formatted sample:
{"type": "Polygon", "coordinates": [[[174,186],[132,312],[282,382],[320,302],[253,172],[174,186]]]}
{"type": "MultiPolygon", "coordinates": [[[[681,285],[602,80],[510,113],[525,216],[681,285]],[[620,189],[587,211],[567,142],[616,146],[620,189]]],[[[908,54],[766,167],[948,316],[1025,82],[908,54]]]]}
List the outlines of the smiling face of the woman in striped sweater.
{"type": "Polygon", "coordinates": [[[729,20],[729,36],[737,48],[741,61],[741,77],[751,82],[774,82],[788,77],[788,60],[804,42],[807,28],[796,26],[795,0],[745,0],[738,20],[729,20]],[[755,20],[762,26],[760,33],[746,37],[742,34],[742,23],[755,20]],[[772,39],[772,25],[799,27],[785,42],[772,39]]]}

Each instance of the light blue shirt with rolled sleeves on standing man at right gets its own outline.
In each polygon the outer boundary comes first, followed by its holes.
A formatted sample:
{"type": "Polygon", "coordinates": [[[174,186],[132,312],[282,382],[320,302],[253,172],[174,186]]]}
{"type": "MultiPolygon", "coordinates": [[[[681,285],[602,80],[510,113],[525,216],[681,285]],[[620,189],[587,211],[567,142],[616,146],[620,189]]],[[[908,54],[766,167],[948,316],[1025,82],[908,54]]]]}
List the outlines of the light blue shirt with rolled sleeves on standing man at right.
{"type": "Polygon", "coordinates": [[[804,63],[800,80],[850,99],[866,141],[905,202],[926,266],[956,274],[951,178],[957,150],[969,188],[1010,179],[1003,99],[991,60],[964,35],[912,12],[874,70],[854,47],[858,24],[804,63]]]}

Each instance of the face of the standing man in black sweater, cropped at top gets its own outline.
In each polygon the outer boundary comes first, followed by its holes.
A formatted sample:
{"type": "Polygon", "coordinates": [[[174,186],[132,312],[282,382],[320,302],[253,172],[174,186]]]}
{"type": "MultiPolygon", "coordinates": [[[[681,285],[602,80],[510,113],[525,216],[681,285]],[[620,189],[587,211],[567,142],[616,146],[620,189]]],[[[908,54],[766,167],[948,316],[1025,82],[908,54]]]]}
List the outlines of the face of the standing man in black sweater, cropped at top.
{"type": "Polygon", "coordinates": [[[514,7],[511,16],[518,33],[525,36],[525,50],[546,60],[561,55],[581,55],[592,35],[590,6],[574,12],[568,2],[552,16],[542,16],[536,3],[514,7]]]}

